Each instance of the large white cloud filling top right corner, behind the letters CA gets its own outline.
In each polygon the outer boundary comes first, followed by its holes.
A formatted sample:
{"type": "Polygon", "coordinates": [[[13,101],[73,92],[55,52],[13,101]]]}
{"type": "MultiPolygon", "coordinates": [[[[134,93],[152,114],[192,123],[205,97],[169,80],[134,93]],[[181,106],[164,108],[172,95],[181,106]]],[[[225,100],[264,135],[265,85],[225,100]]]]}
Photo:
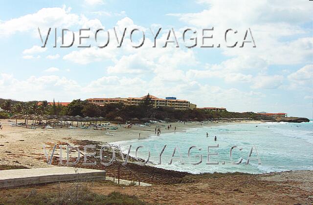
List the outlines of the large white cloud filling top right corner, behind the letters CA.
{"type": "MultiPolygon", "coordinates": [[[[313,4],[300,1],[296,5],[292,0],[200,0],[204,9],[198,13],[169,14],[178,17],[189,26],[198,28],[214,27],[213,41],[221,43],[221,49],[227,56],[258,57],[270,64],[297,64],[311,62],[313,39],[311,29],[300,25],[311,23],[313,4]],[[235,48],[226,48],[224,32],[228,28],[238,33],[228,35],[229,40],[239,41],[241,45],[246,29],[251,28],[256,48],[245,44],[235,48]],[[301,35],[301,36],[300,36],[301,35]],[[294,38],[294,37],[298,37],[294,38]],[[307,36],[303,37],[303,36],[307,36]],[[290,39],[286,40],[286,37],[290,39]],[[309,38],[310,37],[310,38],[309,38]]],[[[249,35],[248,35],[249,37],[249,35]]]]}

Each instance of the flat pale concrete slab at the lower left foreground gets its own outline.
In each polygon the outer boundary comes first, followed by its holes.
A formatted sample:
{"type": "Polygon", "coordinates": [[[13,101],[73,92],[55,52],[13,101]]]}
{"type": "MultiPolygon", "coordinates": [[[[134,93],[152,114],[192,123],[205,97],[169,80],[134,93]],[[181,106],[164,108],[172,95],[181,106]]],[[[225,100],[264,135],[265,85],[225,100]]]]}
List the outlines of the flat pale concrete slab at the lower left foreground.
{"type": "Polygon", "coordinates": [[[73,180],[105,180],[106,171],[67,166],[0,171],[0,188],[73,180]]]}

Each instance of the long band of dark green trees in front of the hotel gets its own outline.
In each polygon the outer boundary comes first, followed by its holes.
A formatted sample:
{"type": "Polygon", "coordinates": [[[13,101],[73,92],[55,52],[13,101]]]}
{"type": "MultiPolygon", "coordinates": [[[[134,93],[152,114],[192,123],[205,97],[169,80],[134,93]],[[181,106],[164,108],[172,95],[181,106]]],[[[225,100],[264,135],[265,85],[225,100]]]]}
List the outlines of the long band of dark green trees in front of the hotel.
{"type": "Polygon", "coordinates": [[[124,105],[122,103],[106,104],[100,106],[80,99],[73,100],[67,106],[62,106],[59,102],[48,104],[47,101],[38,103],[18,102],[13,100],[0,99],[0,118],[14,114],[34,114],[34,115],[68,115],[82,117],[103,117],[109,121],[132,121],[139,119],[175,121],[203,121],[221,118],[246,118],[251,120],[272,120],[271,118],[253,112],[214,112],[208,110],[175,110],[171,107],[153,108],[153,102],[148,94],[139,105],[124,105]]]}

